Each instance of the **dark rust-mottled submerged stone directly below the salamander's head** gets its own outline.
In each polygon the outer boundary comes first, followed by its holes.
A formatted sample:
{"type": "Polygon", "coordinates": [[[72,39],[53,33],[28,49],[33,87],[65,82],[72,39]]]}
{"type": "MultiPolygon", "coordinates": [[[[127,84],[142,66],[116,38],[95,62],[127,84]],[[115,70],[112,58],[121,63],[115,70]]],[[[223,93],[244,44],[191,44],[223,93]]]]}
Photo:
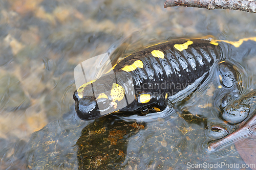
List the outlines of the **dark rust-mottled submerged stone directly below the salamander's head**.
{"type": "Polygon", "coordinates": [[[77,140],[79,169],[116,169],[125,160],[129,138],[145,124],[105,117],[82,130],[77,140]]]}

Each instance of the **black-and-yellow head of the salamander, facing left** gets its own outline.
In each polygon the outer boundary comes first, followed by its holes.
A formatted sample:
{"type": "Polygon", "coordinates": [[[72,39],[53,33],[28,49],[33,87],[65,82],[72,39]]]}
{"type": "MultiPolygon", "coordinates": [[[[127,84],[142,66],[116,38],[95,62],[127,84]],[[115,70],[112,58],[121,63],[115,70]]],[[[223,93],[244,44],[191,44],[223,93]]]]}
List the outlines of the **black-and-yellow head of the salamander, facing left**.
{"type": "Polygon", "coordinates": [[[74,92],[75,109],[83,120],[92,120],[113,112],[124,106],[124,89],[113,81],[88,82],[74,92]]]}

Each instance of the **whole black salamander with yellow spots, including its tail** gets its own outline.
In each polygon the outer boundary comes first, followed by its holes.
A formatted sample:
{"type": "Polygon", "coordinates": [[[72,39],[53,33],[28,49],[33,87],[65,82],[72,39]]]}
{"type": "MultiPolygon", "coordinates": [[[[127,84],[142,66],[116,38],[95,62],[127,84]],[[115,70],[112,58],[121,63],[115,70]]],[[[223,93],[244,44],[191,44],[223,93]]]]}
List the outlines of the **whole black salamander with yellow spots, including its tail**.
{"type": "Polygon", "coordinates": [[[255,48],[255,44],[248,45],[253,41],[256,37],[239,41],[178,39],[148,46],[122,59],[99,79],[80,86],[73,95],[77,115],[91,120],[115,112],[160,112],[168,98],[204,82],[230,51],[255,48]]]}

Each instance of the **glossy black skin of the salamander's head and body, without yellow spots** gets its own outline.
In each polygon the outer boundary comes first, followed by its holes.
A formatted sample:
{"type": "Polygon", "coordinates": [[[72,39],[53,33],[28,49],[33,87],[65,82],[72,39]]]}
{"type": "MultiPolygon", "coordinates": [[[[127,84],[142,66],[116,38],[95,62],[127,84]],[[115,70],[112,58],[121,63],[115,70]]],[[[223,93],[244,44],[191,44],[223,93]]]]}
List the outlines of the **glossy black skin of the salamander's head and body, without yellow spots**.
{"type": "Polygon", "coordinates": [[[78,116],[83,120],[91,120],[117,111],[142,111],[146,114],[164,110],[167,105],[166,93],[169,97],[182,92],[188,85],[196,86],[202,83],[212,66],[222,56],[220,46],[211,44],[209,40],[191,39],[193,44],[188,45],[187,49],[181,52],[174,47],[175,44],[183,44],[187,41],[181,39],[147,47],[121,60],[113,69],[115,74],[102,75],[93,84],[89,84],[88,87],[93,91],[87,90],[86,87],[83,90],[83,98],[80,99],[75,91],[73,98],[76,101],[78,116]],[[154,50],[163,52],[164,58],[154,57],[151,54],[154,50]],[[124,66],[132,65],[137,60],[142,61],[143,68],[129,72],[122,70],[124,66]],[[95,102],[95,95],[104,92],[108,95],[106,103],[111,103],[112,82],[123,87],[125,98],[116,101],[117,108],[109,106],[102,111],[95,102]],[[168,85],[168,88],[164,87],[164,84],[168,85]],[[134,91],[129,90],[132,86],[134,91]],[[150,102],[140,103],[140,94],[151,94],[150,102]]]}

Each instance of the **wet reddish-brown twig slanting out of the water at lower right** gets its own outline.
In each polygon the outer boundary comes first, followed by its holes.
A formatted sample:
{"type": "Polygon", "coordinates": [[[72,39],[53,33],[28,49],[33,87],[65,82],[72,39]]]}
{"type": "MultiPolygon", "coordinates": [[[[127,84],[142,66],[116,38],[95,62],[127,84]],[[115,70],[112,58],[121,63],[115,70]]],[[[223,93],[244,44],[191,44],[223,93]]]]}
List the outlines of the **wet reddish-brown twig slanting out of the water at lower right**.
{"type": "Polygon", "coordinates": [[[208,146],[208,150],[213,152],[217,148],[226,145],[232,141],[241,140],[250,137],[255,131],[256,115],[252,116],[247,122],[242,125],[238,130],[220,139],[219,141],[212,142],[208,146]]]}

